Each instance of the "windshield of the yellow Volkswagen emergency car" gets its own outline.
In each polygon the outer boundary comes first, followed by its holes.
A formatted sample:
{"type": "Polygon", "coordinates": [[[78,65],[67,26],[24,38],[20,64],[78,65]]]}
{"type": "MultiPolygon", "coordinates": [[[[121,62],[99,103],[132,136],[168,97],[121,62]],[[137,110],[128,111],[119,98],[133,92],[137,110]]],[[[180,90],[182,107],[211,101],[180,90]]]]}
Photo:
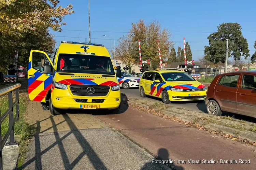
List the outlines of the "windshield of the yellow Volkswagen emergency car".
{"type": "Polygon", "coordinates": [[[184,72],[162,73],[162,76],[167,82],[196,81],[188,73],[184,73],[184,72]]]}

